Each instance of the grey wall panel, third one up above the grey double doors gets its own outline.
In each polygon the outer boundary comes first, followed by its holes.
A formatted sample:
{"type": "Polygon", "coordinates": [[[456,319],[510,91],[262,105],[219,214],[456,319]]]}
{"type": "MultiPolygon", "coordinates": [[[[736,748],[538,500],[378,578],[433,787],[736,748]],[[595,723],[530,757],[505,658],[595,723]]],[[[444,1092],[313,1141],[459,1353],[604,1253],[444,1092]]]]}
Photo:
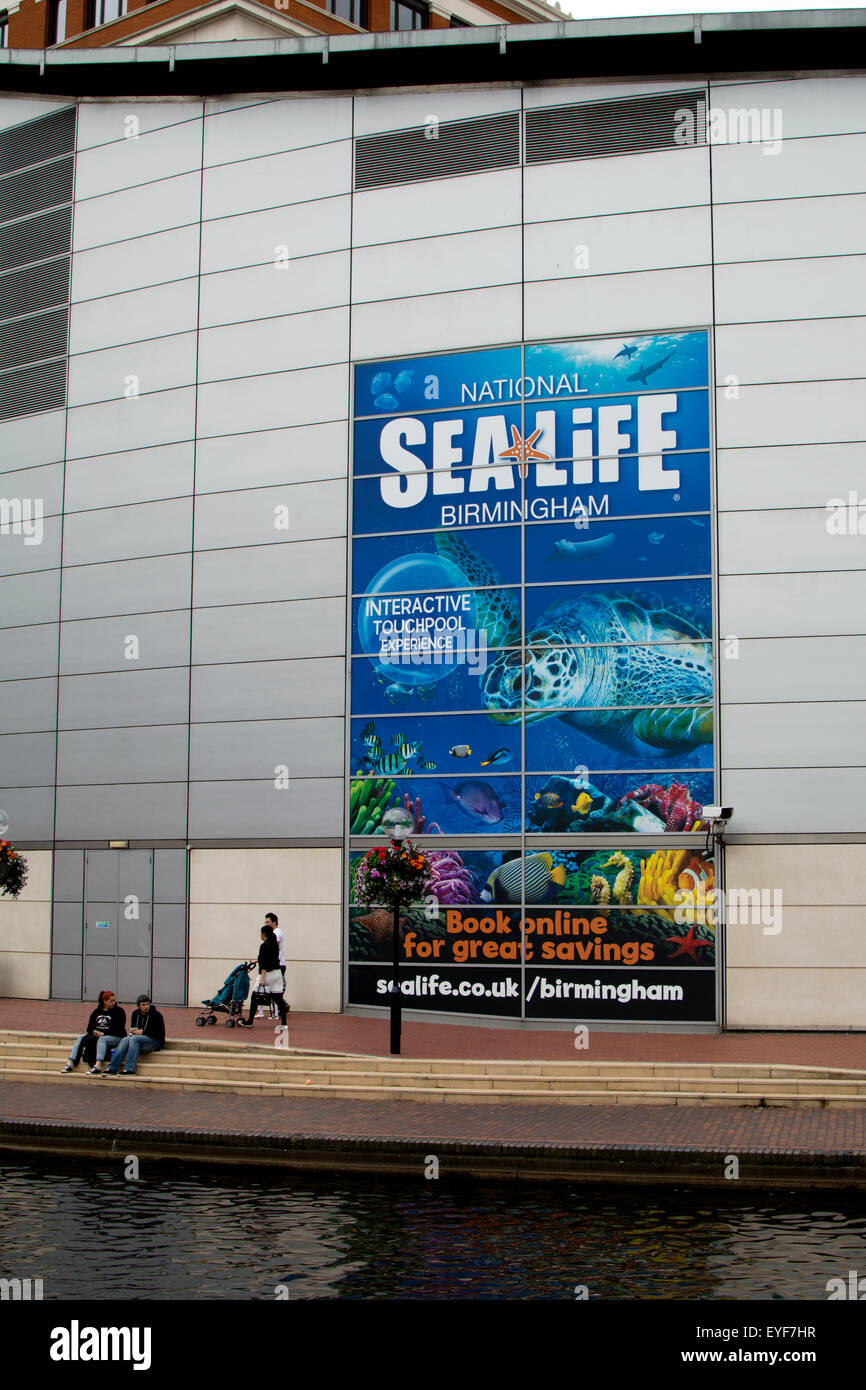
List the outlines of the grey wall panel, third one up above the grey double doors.
{"type": "Polygon", "coordinates": [[[182,724],[186,721],[188,702],[186,667],[118,671],[107,676],[64,676],[60,681],[60,727],[182,724]]]}

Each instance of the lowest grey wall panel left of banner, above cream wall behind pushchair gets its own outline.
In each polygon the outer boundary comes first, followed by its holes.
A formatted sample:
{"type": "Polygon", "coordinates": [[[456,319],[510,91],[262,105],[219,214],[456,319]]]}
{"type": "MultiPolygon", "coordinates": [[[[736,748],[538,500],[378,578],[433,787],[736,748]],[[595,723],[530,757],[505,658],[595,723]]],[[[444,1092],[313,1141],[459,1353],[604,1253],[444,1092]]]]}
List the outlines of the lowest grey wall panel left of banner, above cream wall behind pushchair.
{"type": "Polygon", "coordinates": [[[238,838],[239,827],[249,840],[281,840],[343,833],[342,778],[299,781],[292,794],[274,783],[192,783],[189,788],[189,835],[192,840],[238,838]]]}

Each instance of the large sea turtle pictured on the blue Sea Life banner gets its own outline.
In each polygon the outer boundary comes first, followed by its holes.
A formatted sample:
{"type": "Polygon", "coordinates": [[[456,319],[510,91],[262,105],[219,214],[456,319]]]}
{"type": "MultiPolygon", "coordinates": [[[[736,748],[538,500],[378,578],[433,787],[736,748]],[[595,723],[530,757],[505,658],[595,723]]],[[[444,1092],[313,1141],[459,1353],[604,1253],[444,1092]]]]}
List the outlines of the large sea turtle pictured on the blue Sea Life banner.
{"type": "Polygon", "coordinates": [[[548,609],[525,652],[500,652],[488,664],[481,692],[489,717],[513,724],[525,708],[527,724],[560,719],[641,756],[712,742],[710,644],[694,623],[651,602],[577,594],[548,609]]]}

